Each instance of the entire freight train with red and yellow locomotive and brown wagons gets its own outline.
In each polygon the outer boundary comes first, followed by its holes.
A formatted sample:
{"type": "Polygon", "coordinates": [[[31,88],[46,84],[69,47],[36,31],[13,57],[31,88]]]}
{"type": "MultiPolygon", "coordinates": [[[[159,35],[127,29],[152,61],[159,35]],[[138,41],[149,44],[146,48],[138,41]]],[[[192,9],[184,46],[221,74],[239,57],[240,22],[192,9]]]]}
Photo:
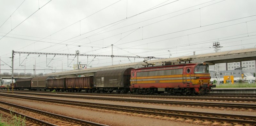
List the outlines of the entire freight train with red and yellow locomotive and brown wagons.
{"type": "Polygon", "coordinates": [[[56,90],[118,93],[205,94],[213,87],[209,65],[204,63],[163,63],[162,66],[97,71],[92,76],[19,79],[16,90],[56,90]]]}

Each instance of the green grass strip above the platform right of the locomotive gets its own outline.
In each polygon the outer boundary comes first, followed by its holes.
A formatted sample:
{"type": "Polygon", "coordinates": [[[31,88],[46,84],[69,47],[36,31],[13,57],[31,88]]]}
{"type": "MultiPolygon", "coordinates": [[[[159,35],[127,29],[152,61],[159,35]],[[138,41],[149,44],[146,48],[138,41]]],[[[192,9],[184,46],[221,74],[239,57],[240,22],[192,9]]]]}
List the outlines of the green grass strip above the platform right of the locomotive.
{"type": "Polygon", "coordinates": [[[256,83],[223,83],[216,85],[216,88],[255,88],[256,83]]]}

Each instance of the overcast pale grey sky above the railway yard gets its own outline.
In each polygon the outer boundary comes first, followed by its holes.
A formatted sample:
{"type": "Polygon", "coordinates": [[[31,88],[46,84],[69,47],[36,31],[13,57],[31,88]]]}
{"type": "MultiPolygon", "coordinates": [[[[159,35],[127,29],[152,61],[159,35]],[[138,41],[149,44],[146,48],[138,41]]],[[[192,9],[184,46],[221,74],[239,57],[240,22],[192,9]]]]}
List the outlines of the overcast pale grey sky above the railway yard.
{"type": "MultiPolygon", "coordinates": [[[[169,58],[214,52],[217,41],[221,51],[254,48],[255,15],[256,0],[0,0],[0,56],[11,66],[12,50],[111,55],[113,44],[113,55],[169,58]]],[[[56,55],[49,63],[52,58],[15,53],[14,69],[25,69],[25,62],[33,69],[36,60],[36,69],[46,69],[36,73],[45,74],[77,62],[56,55]]],[[[111,65],[111,57],[93,58],[79,62],[111,65]]],[[[114,58],[113,64],[130,60],[114,58]]],[[[10,69],[3,61],[1,69],[10,69]]]]}

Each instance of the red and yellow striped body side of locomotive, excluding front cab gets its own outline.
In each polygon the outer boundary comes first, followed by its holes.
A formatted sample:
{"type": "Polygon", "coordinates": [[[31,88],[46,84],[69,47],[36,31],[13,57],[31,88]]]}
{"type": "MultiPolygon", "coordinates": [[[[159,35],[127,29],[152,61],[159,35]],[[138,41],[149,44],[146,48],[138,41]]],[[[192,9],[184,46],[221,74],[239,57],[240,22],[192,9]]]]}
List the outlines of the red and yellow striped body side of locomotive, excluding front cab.
{"type": "Polygon", "coordinates": [[[182,70],[183,67],[177,66],[134,69],[132,70],[131,84],[133,88],[183,87],[182,70]]]}

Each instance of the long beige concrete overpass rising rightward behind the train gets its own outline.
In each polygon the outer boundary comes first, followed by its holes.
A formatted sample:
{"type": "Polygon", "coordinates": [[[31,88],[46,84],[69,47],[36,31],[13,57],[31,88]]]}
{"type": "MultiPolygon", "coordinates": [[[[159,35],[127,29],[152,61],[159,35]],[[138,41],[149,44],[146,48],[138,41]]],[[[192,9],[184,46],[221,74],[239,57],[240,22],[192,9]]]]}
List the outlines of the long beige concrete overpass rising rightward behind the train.
{"type": "MultiPolygon", "coordinates": [[[[209,65],[214,65],[216,63],[256,60],[256,48],[233,50],[233,51],[222,51],[222,52],[198,54],[198,55],[183,56],[183,57],[166,58],[166,59],[148,60],[147,62],[155,63],[156,65],[162,65],[162,62],[170,62],[170,61],[175,62],[177,61],[177,59],[188,59],[188,58],[193,58],[193,61],[191,61],[192,63],[206,61],[209,65]]],[[[77,75],[89,76],[89,75],[93,75],[94,72],[97,72],[100,70],[129,68],[129,67],[137,68],[137,67],[143,67],[143,64],[145,63],[134,62],[134,63],[120,64],[120,65],[50,73],[47,75],[52,75],[55,77],[75,77],[77,75]]]]}

